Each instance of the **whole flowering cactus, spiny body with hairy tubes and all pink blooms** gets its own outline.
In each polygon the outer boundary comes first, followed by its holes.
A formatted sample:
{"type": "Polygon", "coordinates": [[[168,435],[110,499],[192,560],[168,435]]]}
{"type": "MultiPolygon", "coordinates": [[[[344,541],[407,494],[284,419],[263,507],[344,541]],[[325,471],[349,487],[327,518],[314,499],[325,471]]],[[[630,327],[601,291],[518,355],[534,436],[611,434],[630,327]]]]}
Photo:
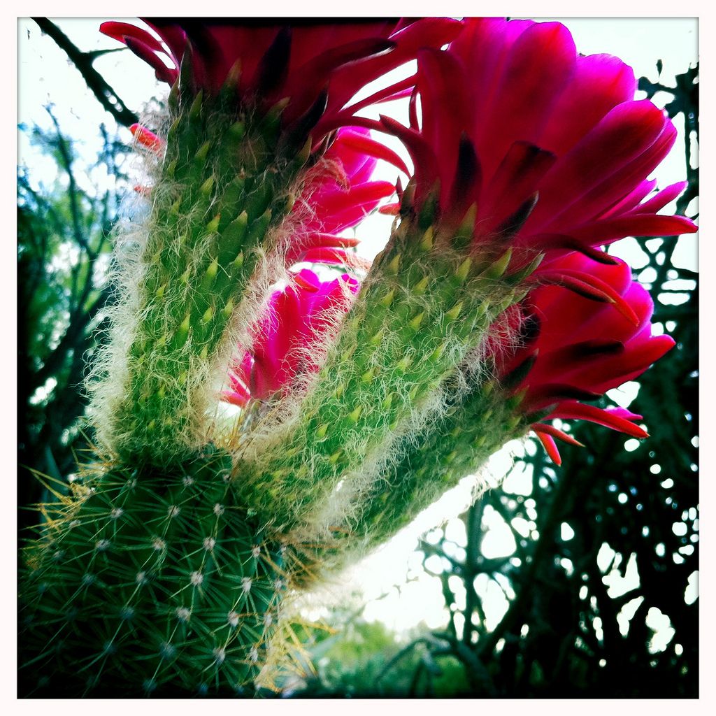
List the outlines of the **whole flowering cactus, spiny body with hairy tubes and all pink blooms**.
{"type": "Polygon", "coordinates": [[[26,695],[274,687],[291,596],[505,442],[559,462],[556,418],[647,437],[589,405],[673,344],[604,246],[695,231],[657,213],[682,184],[649,196],[671,122],[560,24],[150,24],[102,26],[171,89],[135,127],[151,211],[117,247],[97,455],[24,554],[26,695]],[[407,127],[359,115],[402,97],[407,127]],[[342,234],[394,191],[365,266],[342,234]]]}

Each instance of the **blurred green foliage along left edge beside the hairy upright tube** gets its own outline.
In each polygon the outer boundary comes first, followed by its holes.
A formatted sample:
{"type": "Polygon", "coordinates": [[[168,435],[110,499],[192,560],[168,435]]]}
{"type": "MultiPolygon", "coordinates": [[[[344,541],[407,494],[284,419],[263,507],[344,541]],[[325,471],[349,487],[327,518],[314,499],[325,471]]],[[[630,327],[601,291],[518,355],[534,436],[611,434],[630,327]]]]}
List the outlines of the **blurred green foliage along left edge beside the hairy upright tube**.
{"type": "MultiPolygon", "coordinates": [[[[114,188],[93,190],[89,175],[108,170],[115,185],[123,183],[120,145],[105,127],[102,155],[87,166],[48,111],[52,130],[21,128],[42,155],[57,163],[50,185],[38,184],[25,167],[18,177],[21,506],[41,497],[27,468],[60,478],[74,467],[72,448],[85,407],[77,389],[84,359],[101,340],[98,329],[110,295],[108,237],[119,203],[114,188]]],[[[32,519],[21,513],[22,525],[32,519]]]]}

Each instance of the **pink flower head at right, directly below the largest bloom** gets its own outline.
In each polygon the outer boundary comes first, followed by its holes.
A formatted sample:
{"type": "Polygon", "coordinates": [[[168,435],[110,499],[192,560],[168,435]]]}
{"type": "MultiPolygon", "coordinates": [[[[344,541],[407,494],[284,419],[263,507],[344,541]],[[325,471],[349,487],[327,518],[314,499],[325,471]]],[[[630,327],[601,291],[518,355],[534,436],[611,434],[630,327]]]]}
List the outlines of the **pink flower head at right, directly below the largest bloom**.
{"type": "Polygon", "coordinates": [[[636,319],[593,299],[566,299],[560,286],[533,289],[523,304],[503,316],[512,329],[521,326],[523,345],[509,352],[493,344],[498,376],[512,386],[513,394],[521,396],[517,410],[536,417],[531,427],[559,464],[554,438],[576,441],[543,421],[589,420],[633,437],[648,437],[634,425],[641,415],[580,401],[595,400],[638,377],[674,346],[674,340],[652,334],[654,304],[644,286],[632,280],[631,269],[623,261],[609,265],[573,252],[554,263],[565,271],[592,273],[609,284],[636,319]]]}

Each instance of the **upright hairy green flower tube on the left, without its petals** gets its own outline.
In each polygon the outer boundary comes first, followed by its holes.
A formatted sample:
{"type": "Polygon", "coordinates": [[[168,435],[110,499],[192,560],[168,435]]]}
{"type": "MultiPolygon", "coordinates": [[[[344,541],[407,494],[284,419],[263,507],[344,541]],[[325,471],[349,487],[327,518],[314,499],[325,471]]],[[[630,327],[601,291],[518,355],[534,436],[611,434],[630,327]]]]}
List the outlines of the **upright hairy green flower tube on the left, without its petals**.
{"type": "MultiPolygon", "coordinates": [[[[180,95],[180,93],[179,93],[180,95]]],[[[279,150],[283,104],[266,115],[231,92],[171,102],[170,128],[143,248],[142,289],[112,416],[120,455],[164,463],[205,442],[213,371],[267,235],[291,209],[308,153],[279,150]]],[[[245,317],[245,316],[244,316],[245,317]]]]}

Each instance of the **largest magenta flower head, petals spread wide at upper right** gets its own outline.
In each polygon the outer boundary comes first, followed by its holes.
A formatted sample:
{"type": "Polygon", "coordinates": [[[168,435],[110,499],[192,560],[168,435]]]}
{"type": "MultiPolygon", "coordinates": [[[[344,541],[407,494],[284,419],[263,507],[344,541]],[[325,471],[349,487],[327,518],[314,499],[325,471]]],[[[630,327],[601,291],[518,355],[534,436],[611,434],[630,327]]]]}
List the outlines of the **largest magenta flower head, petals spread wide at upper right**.
{"type": "Polygon", "coordinates": [[[657,214],[684,183],[644,201],[676,130],[652,102],[634,100],[636,89],[630,67],[579,56],[559,23],[468,19],[446,52],[418,54],[422,126],[415,94],[410,127],[361,121],[405,142],[416,211],[436,197],[440,226],[454,232],[475,207],[473,246],[502,236],[532,254],[591,255],[625,236],[696,230],[657,214]]]}

